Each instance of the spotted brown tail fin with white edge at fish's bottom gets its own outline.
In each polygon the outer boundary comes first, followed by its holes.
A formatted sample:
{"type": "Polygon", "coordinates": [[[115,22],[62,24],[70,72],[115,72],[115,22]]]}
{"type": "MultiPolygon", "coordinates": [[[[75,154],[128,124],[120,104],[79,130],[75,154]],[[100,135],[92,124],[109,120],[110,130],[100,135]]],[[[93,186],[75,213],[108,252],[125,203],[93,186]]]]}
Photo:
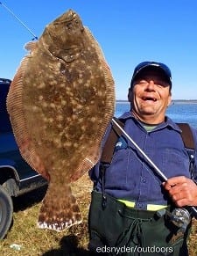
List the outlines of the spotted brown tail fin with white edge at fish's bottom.
{"type": "Polygon", "coordinates": [[[71,187],[65,183],[57,186],[50,182],[39,211],[39,228],[61,231],[81,221],[81,211],[71,187]]]}

